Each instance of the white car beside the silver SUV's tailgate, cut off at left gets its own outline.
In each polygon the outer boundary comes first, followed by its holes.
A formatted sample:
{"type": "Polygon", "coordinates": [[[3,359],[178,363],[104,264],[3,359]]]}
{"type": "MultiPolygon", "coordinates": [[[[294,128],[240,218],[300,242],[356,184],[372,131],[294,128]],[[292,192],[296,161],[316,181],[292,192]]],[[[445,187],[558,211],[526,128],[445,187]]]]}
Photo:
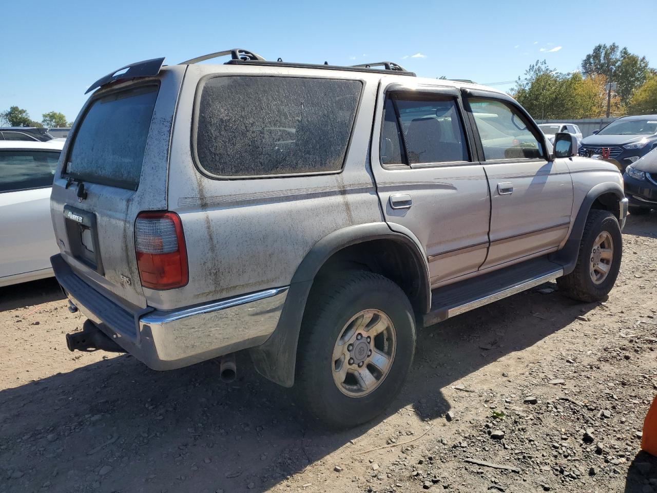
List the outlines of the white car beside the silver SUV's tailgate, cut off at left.
{"type": "Polygon", "coordinates": [[[53,275],[50,192],[64,142],[0,141],[0,286],[53,275]]]}

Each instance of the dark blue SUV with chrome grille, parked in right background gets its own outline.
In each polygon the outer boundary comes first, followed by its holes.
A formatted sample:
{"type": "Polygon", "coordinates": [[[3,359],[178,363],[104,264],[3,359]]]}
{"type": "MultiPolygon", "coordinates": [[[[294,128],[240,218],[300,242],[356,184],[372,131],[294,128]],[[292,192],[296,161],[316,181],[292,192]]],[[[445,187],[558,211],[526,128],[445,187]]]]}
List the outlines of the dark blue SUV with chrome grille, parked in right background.
{"type": "Polygon", "coordinates": [[[581,141],[579,155],[613,162],[618,169],[657,147],[657,114],[622,116],[581,141]]]}

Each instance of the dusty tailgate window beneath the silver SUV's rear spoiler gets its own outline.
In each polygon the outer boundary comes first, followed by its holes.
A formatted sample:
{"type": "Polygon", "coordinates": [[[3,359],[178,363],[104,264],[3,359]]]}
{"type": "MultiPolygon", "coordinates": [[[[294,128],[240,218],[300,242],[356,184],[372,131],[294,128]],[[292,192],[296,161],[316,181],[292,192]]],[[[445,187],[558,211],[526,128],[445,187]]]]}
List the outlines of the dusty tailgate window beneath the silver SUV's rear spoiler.
{"type": "Polygon", "coordinates": [[[64,174],[136,190],[157,95],[158,86],[148,85],[93,101],[74,135],[64,174]]]}

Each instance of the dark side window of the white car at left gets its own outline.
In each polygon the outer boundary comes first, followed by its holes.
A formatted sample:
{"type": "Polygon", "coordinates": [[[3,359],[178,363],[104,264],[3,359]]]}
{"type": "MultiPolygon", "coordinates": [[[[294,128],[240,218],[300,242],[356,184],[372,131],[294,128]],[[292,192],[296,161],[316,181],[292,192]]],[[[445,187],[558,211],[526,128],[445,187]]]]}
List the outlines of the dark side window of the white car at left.
{"type": "Polygon", "coordinates": [[[0,151],[0,192],[50,187],[57,151],[0,151]]]}

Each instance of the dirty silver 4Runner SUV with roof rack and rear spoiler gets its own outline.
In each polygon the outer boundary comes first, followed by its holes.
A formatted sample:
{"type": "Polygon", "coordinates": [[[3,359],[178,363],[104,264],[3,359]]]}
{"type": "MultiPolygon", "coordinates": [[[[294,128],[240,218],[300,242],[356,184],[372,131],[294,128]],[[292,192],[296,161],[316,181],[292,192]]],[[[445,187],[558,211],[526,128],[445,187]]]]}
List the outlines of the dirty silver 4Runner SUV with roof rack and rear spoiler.
{"type": "Polygon", "coordinates": [[[555,148],[508,95],[384,62],[231,50],[125,66],[55,174],[71,350],[168,370],[248,350],[334,426],[380,413],[416,331],[556,279],[614,285],[627,212],[607,162],[555,148]],[[230,55],[225,64],[197,64],[230,55]]]}

